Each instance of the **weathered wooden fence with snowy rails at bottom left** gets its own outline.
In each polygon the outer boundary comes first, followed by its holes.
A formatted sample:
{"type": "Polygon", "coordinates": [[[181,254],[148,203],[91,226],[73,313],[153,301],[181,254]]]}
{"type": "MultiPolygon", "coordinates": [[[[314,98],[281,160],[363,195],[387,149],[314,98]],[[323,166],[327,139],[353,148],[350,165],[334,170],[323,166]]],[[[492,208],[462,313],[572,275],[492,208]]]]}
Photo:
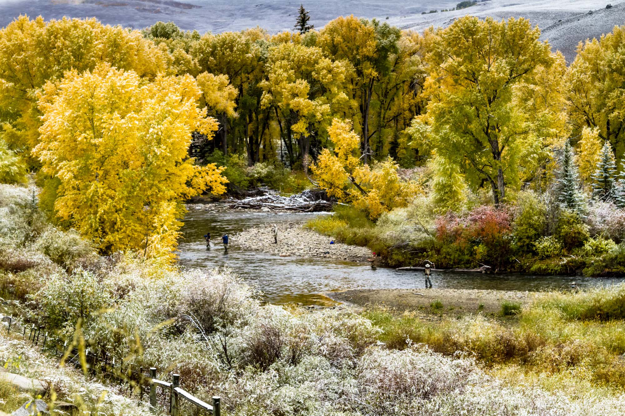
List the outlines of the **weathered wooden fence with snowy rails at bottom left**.
{"type": "MultiPolygon", "coordinates": [[[[7,334],[11,333],[11,324],[13,322],[14,322],[13,317],[12,316],[9,317],[7,334]]],[[[13,325],[13,326],[17,327],[17,325],[13,325]]],[[[24,338],[24,340],[26,340],[26,325],[22,324],[22,327],[23,327],[22,337],[24,338]]],[[[42,351],[45,352],[48,333],[45,332],[44,335],[42,335],[42,342],[39,343],[39,335],[41,334],[41,330],[42,328],[36,328],[35,325],[31,325],[30,332],[28,334],[27,339],[29,342],[31,342],[34,345],[37,345],[37,344],[41,345],[42,351]]],[[[54,344],[52,347],[50,347],[54,349],[53,350],[54,355],[63,355],[61,352],[61,349],[64,349],[64,347],[67,345],[67,342],[65,342],[64,345],[61,345],[60,342],[50,343],[49,345],[51,344],[54,344]],[[61,348],[59,348],[59,345],[61,346],[61,348]]],[[[74,351],[71,351],[67,357],[68,360],[66,362],[80,365],[79,360],[76,360],[76,357],[78,355],[79,355],[78,350],[76,350],[75,353],[74,351]]],[[[98,360],[99,355],[96,355],[95,353],[93,355],[89,354],[89,349],[86,350],[85,355],[86,355],[87,367],[91,370],[96,371],[96,360],[98,360]]],[[[100,355],[104,357],[104,365],[103,365],[104,369],[102,370],[102,374],[111,375],[113,377],[118,378],[120,384],[124,379],[128,379],[130,381],[129,376],[132,376],[133,374],[136,375],[136,373],[133,373],[132,364],[130,364],[127,370],[128,376],[124,377],[125,372],[122,367],[123,360],[120,360],[119,370],[116,370],[114,357],[113,357],[111,365],[109,365],[109,362],[107,360],[107,357],[109,355],[106,352],[100,355]],[[108,372],[107,369],[111,369],[113,372],[108,372]]],[[[100,363],[100,366],[102,366],[102,363],[100,363]]],[[[164,389],[167,392],[169,392],[169,412],[168,413],[171,416],[181,416],[180,415],[180,400],[181,399],[186,400],[187,402],[191,403],[192,405],[198,407],[201,410],[205,410],[206,412],[209,412],[213,416],[221,416],[221,397],[213,396],[212,405],[209,405],[206,402],[200,399],[197,399],[197,397],[195,397],[194,395],[192,395],[191,393],[187,392],[186,390],[180,387],[180,375],[179,374],[172,374],[172,382],[169,383],[164,380],[159,380],[156,378],[156,368],[154,367],[151,367],[149,377],[146,377],[146,375],[143,374],[143,369],[139,369],[139,379],[137,380],[135,378],[135,380],[133,380],[133,382],[139,386],[140,400],[143,400],[143,388],[144,388],[145,380],[147,380],[149,384],[150,405],[153,408],[156,408],[156,405],[157,405],[156,389],[157,387],[161,387],[161,389],[164,389]]],[[[132,392],[132,389],[131,389],[131,392],[132,392]]]]}

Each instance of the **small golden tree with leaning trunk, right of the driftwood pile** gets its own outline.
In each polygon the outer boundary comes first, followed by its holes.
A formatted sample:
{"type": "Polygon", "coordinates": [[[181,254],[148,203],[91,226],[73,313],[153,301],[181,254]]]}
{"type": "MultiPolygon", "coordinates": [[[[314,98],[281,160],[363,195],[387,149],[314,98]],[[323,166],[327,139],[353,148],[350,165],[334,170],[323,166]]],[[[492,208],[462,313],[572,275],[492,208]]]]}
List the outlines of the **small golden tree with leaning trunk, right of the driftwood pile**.
{"type": "Polygon", "coordinates": [[[416,184],[401,180],[398,166],[391,159],[369,166],[355,156],[359,153],[360,137],[350,121],[334,119],[328,134],[334,152],[323,149],[312,172],[329,196],[353,202],[371,219],[377,219],[387,210],[406,206],[419,191],[416,184]]]}

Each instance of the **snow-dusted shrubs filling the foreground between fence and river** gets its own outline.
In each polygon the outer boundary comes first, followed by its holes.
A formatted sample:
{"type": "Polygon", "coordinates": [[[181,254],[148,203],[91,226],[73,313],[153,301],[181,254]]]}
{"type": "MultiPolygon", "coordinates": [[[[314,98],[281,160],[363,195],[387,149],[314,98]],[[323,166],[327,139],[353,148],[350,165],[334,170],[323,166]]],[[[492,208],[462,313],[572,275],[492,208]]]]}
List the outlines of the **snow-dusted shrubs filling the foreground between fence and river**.
{"type": "MultiPolygon", "coordinates": [[[[578,342],[571,330],[571,340],[561,350],[549,348],[562,337],[556,335],[556,321],[569,330],[567,325],[578,325],[578,320],[588,317],[609,320],[605,325],[620,319],[622,311],[616,307],[620,289],[609,292],[613,304],[597,304],[601,294],[584,295],[581,303],[586,307],[577,309],[579,302],[565,296],[543,300],[539,307],[547,312],[540,314],[541,319],[521,315],[527,329],[519,330],[526,334],[520,341],[516,332],[484,317],[441,327],[409,317],[390,337],[389,325],[397,321],[386,312],[357,315],[349,310],[307,312],[264,305],[256,290],[228,270],[179,270],[132,254],[94,256],[88,244],[77,242],[71,232],[47,225],[27,229],[14,222],[27,210],[29,194],[11,187],[1,187],[1,192],[10,197],[2,199],[0,224],[21,228],[9,237],[3,234],[0,253],[17,250],[24,258],[37,259],[36,264],[12,269],[2,265],[0,270],[4,294],[25,301],[22,313],[28,322],[46,325],[70,343],[78,340],[80,345],[84,340],[91,350],[106,350],[144,368],[155,366],[161,377],[181,374],[183,387],[199,397],[221,395],[224,414],[586,415],[601,409],[602,414],[617,415],[625,411],[624,398],[613,392],[598,397],[589,390],[572,397],[536,385],[511,387],[482,369],[483,364],[516,357],[525,357],[519,359],[522,363],[545,361],[549,356],[554,368],[566,370],[595,365],[587,356],[599,351],[603,355],[597,354],[597,360],[606,360],[606,365],[593,368],[609,370],[597,373],[596,382],[609,382],[612,377],[612,384],[622,385],[622,379],[616,378],[622,372],[607,366],[607,360],[625,350],[625,343],[615,337],[610,341],[607,330],[592,327],[594,338],[601,340],[594,346],[586,338],[578,342]],[[57,233],[54,250],[44,243],[46,233],[57,233]],[[381,320],[384,316],[386,320],[381,320]],[[380,339],[387,344],[380,344],[380,339]]],[[[401,232],[401,222],[392,213],[385,215],[382,220],[401,232]]],[[[425,229],[414,232],[428,235],[425,229]]],[[[12,359],[11,351],[3,347],[0,357],[12,359]]],[[[37,377],[43,371],[14,370],[37,377]]],[[[78,400],[75,384],[59,393],[78,400]]],[[[99,414],[127,414],[119,400],[113,397],[99,405],[99,414]]],[[[98,407],[97,400],[93,406],[98,407]]]]}

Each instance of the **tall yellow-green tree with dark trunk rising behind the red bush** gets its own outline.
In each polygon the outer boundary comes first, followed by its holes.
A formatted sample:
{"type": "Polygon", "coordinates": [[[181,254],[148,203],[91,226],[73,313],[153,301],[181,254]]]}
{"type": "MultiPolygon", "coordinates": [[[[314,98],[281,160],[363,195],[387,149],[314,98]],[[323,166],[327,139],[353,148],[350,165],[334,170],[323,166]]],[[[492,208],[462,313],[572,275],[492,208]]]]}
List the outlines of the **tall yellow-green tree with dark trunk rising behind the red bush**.
{"type": "Polygon", "coordinates": [[[551,106],[561,102],[557,94],[528,94],[548,87],[542,73],[557,59],[526,19],[467,16],[437,35],[424,120],[436,132],[437,155],[456,164],[474,188],[487,184],[498,204],[506,187],[519,185],[524,159],[543,147],[544,135],[566,135],[563,108],[551,106]]]}

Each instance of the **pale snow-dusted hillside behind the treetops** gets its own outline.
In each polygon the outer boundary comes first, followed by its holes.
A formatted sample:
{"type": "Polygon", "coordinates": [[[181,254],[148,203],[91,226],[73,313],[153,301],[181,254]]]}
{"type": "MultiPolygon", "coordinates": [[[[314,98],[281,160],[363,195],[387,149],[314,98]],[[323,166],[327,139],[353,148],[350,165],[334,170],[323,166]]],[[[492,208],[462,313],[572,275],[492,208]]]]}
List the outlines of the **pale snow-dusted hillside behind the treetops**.
{"type": "Polygon", "coordinates": [[[6,26],[19,14],[41,14],[45,19],[95,16],[106,24],[135,28],[171,20],[183,29],[199,32],[239,31],[254,26],[278,32],[291,29],[301,2],[310,9],[311,22],[316,27],[347,14],[377,17],[417,31],[428,26],[447,26],[466,14],[497,19],[527,17],[541,27],[543,39],[549,39],[569,62],[579,41],[599,37],[614,25],[625,24],[623,0],[489,0],[467,9],[428,14],[421,13],[451,9],[457,0],[0,0],[0,26],[6,26]],[[606,9],[608,2],[612,7],[606,9]]]}

